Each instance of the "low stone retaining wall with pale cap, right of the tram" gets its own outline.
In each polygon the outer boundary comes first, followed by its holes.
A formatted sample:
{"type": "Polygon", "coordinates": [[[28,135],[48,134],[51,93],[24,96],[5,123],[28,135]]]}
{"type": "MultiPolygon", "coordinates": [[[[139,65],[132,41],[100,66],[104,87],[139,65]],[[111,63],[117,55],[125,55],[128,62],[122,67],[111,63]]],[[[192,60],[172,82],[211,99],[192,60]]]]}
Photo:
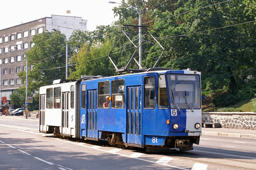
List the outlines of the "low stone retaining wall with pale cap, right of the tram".
{"type": "Polygon", "coordinates": [[[204,122],[220,123],[222,128],[256,130],[254,112],[203,112],[204,122]]]}

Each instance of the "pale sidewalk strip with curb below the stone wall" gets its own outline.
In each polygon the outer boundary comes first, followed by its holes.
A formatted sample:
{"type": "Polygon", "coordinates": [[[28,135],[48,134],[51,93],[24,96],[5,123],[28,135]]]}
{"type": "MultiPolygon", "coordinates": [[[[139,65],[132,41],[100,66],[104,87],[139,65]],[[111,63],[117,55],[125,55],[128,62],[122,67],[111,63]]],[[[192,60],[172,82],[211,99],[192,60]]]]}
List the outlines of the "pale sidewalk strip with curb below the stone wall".
{"type": "Polygon", "coordinates": [[[217,135],[225,137],[240,137],[256,139],[256,130],[231,128],[202,128],[202,135],[217,135]]]}

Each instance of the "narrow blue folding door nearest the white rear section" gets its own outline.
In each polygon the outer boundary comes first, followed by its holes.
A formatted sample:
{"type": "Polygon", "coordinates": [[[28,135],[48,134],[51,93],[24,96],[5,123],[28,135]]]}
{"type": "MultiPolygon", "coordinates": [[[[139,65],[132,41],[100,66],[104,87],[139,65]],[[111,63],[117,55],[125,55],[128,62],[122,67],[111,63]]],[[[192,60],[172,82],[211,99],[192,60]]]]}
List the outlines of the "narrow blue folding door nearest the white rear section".
{"type": "Polygon", "coordinates": [[[86,98],[86,128],[88,138],[98,138],[97,131],[97,90],[88,90],[86,98]]]}

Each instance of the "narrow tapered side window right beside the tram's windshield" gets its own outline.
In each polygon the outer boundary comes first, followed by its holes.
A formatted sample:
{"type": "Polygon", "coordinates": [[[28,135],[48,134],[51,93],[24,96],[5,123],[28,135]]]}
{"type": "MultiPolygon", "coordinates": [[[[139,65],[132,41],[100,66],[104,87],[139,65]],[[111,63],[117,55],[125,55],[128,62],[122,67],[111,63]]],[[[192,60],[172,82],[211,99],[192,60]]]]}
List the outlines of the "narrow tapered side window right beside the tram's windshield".
{"type": "Polygon", "coordinates": [[[166,76],[164,74],[158,76],[158,108],[169,108],[166,88],[166,76]]]}

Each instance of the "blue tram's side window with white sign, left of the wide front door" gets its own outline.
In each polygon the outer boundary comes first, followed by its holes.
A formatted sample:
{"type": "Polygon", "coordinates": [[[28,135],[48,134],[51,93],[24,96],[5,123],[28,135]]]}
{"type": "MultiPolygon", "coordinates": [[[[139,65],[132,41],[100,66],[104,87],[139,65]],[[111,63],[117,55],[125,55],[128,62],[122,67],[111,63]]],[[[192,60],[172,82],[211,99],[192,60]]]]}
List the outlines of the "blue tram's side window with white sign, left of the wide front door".
{"type": "Polygon", "coordinates": [[[112,108],[125,108],[125,80],[112,81],[112,108]]]}

